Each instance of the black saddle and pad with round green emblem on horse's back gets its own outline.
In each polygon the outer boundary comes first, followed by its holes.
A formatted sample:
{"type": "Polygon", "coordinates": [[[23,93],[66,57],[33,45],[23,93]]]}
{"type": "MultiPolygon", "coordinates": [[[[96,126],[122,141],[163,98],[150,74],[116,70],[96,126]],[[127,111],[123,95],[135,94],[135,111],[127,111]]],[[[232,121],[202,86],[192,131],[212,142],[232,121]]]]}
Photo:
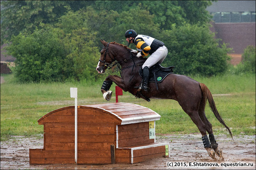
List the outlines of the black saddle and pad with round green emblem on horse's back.
{"type": "MultiPolygon", "coordinates": [[[[155,82],[156,79],[157,83],[161,83],[166,78],[167,75],[173,74],[173,68],[174,66],[162,67],[159,63],[153,65],[149,69],[149,82],[155,82]]],[[[142,68],[139,69],[139,75],[143,78],[142,68]]]]}

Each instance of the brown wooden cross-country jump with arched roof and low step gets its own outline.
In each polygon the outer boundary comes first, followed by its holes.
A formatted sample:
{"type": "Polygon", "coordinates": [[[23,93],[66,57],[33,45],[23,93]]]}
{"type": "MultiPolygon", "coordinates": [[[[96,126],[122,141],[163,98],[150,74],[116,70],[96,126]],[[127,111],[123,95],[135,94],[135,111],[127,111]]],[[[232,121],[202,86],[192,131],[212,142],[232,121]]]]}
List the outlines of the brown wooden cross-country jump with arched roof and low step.
{"type": "MultiPolygon", "coordinates": [[[[131,103],[78,106],[78,164],[137,163],[169,157],[169,142],[155,140],[160,115],[131,103]],[[151,126],[151,127],[150,127],[151,126]]],[[[47,113],[44,147],[30,148],[30,164],[75,163],[74,106],[47,113]]]]}

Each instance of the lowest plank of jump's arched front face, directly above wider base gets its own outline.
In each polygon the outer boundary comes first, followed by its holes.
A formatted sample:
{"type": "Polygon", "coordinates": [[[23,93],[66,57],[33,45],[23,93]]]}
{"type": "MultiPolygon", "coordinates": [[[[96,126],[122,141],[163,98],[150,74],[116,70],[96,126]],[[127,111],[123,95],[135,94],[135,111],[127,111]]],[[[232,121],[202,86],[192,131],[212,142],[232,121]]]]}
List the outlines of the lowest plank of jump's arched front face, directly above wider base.
{"type": "MultiPolygon", "coordinates": [[[[114,145],[115,142],[78,142],[78,150],[109,150],[110,145],[114,145]]],[[[74,150],[75,144],[65,142],[45,143],[45,150],[74,150]]]]}

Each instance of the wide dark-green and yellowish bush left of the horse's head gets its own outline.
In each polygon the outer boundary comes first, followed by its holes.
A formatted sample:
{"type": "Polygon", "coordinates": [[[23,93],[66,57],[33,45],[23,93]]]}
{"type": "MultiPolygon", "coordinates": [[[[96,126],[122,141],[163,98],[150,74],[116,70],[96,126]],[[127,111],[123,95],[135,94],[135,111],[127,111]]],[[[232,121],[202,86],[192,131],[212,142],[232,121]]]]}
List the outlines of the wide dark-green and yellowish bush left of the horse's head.
{"type": "Polygon", "coordinates": [[[19,82],[96,80],[100,53],[94,37],[85,28],[64,34],[41,24],[32,34],[13,36],[6,49],[16,58],[14,73],[19,82]]]}

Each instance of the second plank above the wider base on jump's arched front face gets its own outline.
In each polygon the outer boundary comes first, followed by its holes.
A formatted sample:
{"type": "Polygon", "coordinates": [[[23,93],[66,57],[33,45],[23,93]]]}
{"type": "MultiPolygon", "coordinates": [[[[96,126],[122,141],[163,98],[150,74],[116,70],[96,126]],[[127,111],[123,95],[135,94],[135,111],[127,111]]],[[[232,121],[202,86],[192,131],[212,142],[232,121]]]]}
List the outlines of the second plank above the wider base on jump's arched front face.
{"type": "MultiPolygon", "coordinates": [[[[74,135],[47,135],[47,143],[50,142],[75,142],[74,135]]],[[[114,142],[115,135],[78,135],[78,142],[114,142]]]]}

